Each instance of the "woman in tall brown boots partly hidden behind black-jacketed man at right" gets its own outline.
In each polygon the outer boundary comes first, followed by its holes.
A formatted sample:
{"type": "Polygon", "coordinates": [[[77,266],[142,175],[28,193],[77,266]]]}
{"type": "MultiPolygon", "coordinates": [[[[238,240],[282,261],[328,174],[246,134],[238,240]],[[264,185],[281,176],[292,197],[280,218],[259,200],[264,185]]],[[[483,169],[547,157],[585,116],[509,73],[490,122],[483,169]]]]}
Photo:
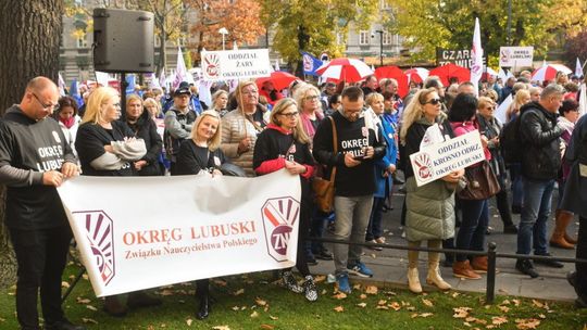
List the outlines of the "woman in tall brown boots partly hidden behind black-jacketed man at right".
{"type": "MultiPolygon", "coordinates": [[[[564,142],[565,150],[571,143],[571,136],[575,129],[575,123],[579,117],[578,113],[578,103],[574,99],[564,100],[562,106],[559,109],[559,118],[558,125],[564,129],[561,139],[564,142]]],[[[554,231],[552,231],[552,237],[550,238],[550,245],[558,246],[562,249],[574,249],[577,243],[577,239],[572,238],[566,232],[566,227],[573,221],[575,215],[572,212],[561,208],[561,202],[563,200],[564,186],[569,174],[571,173],[571,163],[566,157],[562,158],[561,177],[559,178],[559,202],[555,211],[555,226],[554,231]]]]}

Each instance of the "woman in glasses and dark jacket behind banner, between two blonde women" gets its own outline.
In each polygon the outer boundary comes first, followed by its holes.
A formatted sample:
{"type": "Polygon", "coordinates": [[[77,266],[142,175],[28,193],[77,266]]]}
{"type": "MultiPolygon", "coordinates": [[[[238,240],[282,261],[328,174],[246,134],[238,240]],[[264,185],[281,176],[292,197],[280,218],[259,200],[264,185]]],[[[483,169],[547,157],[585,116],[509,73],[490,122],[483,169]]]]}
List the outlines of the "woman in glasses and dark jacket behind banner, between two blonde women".
{"type": "Polygon", "coordinates": [[[157,131],[157,124],[151,119],[149,111],[145,111],[142,99],[137,94],[126,97],[126,125],[135,132],[137,139],[145,141],[147,153],[133,163],[139,176],[163,175],[159,165],[159,155],[163,149],[163,140],[157,131]]]}

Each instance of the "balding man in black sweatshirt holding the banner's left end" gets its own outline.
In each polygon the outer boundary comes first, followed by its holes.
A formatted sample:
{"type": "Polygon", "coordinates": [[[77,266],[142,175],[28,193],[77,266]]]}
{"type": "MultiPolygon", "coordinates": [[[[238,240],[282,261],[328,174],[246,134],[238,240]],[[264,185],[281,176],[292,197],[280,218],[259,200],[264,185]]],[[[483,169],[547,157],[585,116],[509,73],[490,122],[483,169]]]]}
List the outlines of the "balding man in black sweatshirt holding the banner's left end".
{"type": "Polygon", "coordinates": [[[7,227],[16,254],[16,314],[22,329],[79,330],[61,308],[61,277],[72,230],[55,187],[79,174],[70,143],[49,115],[59,89],[46,77],[26,86],[21,104],[0,122],[0,183],[7,189],[7,227]]]}

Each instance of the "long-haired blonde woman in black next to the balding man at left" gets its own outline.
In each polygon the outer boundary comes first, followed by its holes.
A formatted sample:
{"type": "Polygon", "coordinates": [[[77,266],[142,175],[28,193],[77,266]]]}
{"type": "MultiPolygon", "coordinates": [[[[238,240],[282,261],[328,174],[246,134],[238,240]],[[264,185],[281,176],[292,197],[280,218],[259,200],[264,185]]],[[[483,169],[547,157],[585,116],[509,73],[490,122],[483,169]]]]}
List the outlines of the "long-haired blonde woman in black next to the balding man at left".
{"type": "MultiPolygon", "coordinates": [[[[82,175],[88,176],[134,176],[132,163],[147,153],[145,141],[136,139],[133,130],[121,117],[118,92],[110,87],[100,87],[91,92],[86,112],[75,140],[75,148],[82,164],[82,175]]],[[[125,305],[120,295],[107,296],[104,309],[112,316],[125,316],[127,306],[147,307],[161,304],[161,300],[145,291],[128,294],[125,305]]]]}

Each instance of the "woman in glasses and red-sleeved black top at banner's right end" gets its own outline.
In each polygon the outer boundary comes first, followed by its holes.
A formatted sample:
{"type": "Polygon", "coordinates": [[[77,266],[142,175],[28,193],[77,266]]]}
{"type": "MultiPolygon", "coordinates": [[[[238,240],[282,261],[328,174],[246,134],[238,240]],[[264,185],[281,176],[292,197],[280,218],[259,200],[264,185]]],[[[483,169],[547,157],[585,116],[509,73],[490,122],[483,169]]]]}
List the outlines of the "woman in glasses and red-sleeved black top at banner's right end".
{"type": "Polygon", "coordinates": [[[254,148],[253,167],[258,175],[285,168],[291,175],[300,177],[302,194],[296,267],[304,277],[304,282],[300,288],[291,269],[285,269],[282,272],[282,280],[287,289],[296,293],[303,291],[305,299],[313,302],[317,300],[317,291],[305,259],[305,238],[310,229],[312,205],[309,179],[314,172],[314,160],[309,144],[310,138],[302,128],[298,104],[292,99],[282,99],[271,112],[267,128],[259,135],[254,148]]]}

